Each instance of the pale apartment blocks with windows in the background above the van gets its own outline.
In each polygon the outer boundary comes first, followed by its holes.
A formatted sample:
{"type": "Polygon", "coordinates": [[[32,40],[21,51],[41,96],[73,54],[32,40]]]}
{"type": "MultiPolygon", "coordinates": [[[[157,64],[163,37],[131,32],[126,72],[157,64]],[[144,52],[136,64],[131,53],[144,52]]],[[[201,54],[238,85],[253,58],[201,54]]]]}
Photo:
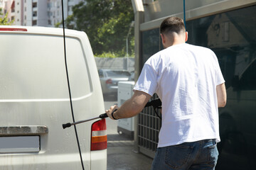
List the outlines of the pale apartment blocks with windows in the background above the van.
{"type": "MultiPolygon", "coordinates": [[[[63,0],[64,19],[72,15],[72,7],[82,0],[63,0]]],[[[3,13],[16,26],[54,27],[62,21],[61,0],[1,0],[3,13]]]]}

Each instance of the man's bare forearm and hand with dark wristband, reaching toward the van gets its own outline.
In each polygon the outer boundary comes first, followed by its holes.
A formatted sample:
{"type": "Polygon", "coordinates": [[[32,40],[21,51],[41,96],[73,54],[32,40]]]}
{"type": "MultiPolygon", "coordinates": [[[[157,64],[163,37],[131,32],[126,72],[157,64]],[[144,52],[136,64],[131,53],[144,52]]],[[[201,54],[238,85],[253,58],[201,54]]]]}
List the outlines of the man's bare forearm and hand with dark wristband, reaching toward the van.
{"type": "Polygon", "coordinates": [[[112,111],[117,109],[113,113],[114,119],[120,118],[131,118],[137,114],[139,114],[146,103],[151,98],[151,95],[146,94],[143,91],[134,91],[134,95],[129,100],[125,101],[120,108],[118,106],[111,106],[109,110],[106,111],[107,115],[112,118],[112,111]]]}

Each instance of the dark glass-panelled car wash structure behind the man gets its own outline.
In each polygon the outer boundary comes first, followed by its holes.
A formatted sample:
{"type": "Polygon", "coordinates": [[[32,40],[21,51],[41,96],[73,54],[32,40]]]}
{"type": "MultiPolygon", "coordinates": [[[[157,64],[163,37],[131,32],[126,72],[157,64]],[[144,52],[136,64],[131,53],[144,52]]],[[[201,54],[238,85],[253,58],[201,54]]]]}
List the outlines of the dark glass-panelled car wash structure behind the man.
{"type": "MultiPolygon", "coordinates": [[[[169,16],[185,18],[187,42],[213,50],[225,79],[227,104],[219,109],[216,169],[255,169],[256,0],[132,0],[132,4],[135,80],[144,62],[163,50],[161,22],[169,16]]],[[[161,120],[153,108],[145,108],[134,124],[135,149],[154,157],[161,120]]]]}

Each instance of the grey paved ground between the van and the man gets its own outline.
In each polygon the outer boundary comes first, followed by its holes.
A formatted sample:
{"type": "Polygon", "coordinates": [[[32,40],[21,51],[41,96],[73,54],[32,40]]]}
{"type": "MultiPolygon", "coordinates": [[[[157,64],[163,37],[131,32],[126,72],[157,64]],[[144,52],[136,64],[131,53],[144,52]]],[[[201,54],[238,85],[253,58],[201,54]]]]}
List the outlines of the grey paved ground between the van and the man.
{"type": "MultiPolygon", "coordinates": [[[[117,103],[115,96],[105,97],[105,109],[117,103]]],[[[153,159],[134,151],[134,140],[117,132],[117,120],[106,118],[107,170],[149,170],[153,159]]]]}

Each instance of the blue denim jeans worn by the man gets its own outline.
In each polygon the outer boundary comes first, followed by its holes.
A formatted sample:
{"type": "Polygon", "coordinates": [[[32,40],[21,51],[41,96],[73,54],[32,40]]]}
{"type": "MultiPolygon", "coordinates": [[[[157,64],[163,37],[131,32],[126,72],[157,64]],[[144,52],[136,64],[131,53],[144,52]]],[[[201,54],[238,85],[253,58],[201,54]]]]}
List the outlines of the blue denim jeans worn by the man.
{"type": "Polygon", "coordinates": [[[151,170],[214,170],[217,159],[215,140],[185,142],[157,148],[151,170]]]}

